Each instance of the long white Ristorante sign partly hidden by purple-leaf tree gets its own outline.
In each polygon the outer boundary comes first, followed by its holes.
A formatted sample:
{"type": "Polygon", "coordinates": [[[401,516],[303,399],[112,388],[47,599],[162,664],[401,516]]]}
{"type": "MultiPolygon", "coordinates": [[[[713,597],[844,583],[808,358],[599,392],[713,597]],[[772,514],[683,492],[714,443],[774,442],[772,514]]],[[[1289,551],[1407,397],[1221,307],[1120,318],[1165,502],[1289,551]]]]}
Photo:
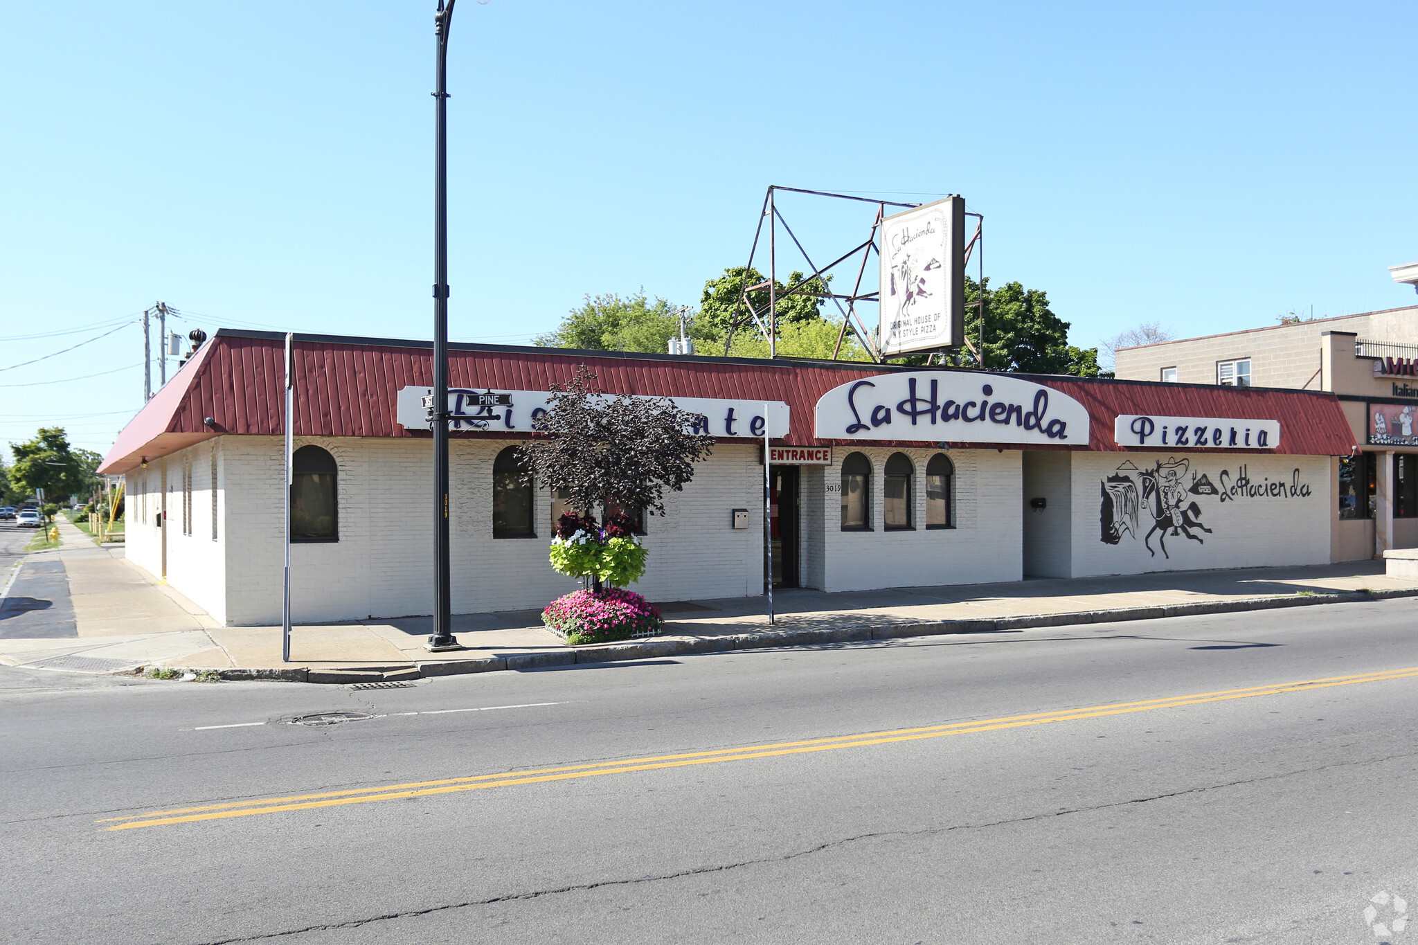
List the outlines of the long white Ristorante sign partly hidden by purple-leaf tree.
{"type": "MultiPolygon", "coordinates": [[[[430,429],[424,398],[432,395],[430,387],[404,387],[398,391],[397,421],[404,429],[430,429]]],[[[467,387],[448,388],[448,421],[451,431],[482,431],[496,434],[516,431],[530,434],[532,424],[546,412],[546,391],[499,391],[467,387]],[[505,395],[488,397],[489,394],[505,395]],[[503,401],[492,405],[488,401],[503,401]]],[[[710,397],[665,397],[675,407],[695,415],[691,432],[709,436],[761,439],[788,435],[788,405],[783,401],[732,401],[710,397]]]]}

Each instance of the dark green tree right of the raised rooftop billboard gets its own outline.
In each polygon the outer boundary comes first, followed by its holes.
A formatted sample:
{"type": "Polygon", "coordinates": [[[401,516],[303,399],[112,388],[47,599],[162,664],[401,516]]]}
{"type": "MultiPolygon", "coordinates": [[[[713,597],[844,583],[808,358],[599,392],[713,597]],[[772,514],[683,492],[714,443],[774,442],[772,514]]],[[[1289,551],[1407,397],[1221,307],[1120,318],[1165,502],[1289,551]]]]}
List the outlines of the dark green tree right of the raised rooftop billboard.
{"type": "MultiPolygon", "coordinates": [[[[966,276],[966,300],[980,298],[980,285],[966,276]]],[[[984,366],[991,371],[1028,374],[1073,374],[1098,377],[1098,349],[1079,349],[1068,343],[1069,323],[1049,310],[1042,289],[1025,289],[1007,282],[998,289],[984,279],[984,366]]],[[[980,307],[966,310],[966,337],[980,346],[980,307]]],[[[968,354],[957,361],[968,363],[968,354]]]]}

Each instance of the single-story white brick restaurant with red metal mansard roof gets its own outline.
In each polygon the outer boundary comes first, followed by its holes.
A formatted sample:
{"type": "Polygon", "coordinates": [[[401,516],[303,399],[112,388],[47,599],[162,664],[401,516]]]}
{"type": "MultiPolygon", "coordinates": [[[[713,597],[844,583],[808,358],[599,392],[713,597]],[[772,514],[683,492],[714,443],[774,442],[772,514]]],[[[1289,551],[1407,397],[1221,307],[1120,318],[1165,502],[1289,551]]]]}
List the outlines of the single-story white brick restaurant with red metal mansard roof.
{"type": "MultiPolygon", "coordinates": [[[[560,496],[510,449],[579,366],[715,438],[638,516],[651,601],[760,595],[769,574],[861,591],[1324,564],[1357,448],[1326,392],[451,346],[454,612],[580,587],[547,562],[560,496]]],[[[428,613],[431,346],[295,336],[294,368],[294,619],[428,613]]],[[[221,330],[101,468],[126,476],[129,560],[228,626],[281,619],[284,384],[285,336],[221,330]]]]}

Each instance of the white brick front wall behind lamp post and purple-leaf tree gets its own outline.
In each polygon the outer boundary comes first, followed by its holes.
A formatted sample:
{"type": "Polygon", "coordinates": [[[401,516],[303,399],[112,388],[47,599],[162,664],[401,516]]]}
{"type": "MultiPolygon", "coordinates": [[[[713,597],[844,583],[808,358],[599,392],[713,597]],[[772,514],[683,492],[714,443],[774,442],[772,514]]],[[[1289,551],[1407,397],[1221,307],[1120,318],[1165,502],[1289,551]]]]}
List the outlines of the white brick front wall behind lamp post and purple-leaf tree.
{"type": "MultiPolygon", "coordinates": [[[[281,439],[227,436],[230,625],[281,619],[284,526],[281,439]]],[[[298,622],[430,612],[432,448],[427,441],[296,438],[339,465],[337,543],[291,550],[291,606],[298,622]]],[[[452,608],[455,613],[539,608],[580,587],[552,570],[552,496],[537,489],[536,538],[492,537],[492,463],[506,441],[450,448],[452,608]]],[[[652,517],[642,538],[649,568],[631,589],[652,601],[761,592],[761,466],[754,446],[719,445],[682,494],[652,517]],[[750,528],[733,530],[732,509],[750,528]]],[[[176,582],[174,582],[176,584],[176,582]]]]}

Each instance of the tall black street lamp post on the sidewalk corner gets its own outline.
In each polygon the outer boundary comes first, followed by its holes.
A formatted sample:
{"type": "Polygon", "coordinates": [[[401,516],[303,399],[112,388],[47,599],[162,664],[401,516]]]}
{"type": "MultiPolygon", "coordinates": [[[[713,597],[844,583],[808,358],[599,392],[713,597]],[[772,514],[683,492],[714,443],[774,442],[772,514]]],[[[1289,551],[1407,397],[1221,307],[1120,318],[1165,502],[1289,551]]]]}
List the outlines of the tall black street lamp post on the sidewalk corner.
{"type": "Polygon", "coordinates": [[[448,570],[448,27],[452,4],[438,0],[434,33],[438,43],[437,133],[434,139],[434,632],[430,650],[454,650],[452,591],[448,570]]]}

